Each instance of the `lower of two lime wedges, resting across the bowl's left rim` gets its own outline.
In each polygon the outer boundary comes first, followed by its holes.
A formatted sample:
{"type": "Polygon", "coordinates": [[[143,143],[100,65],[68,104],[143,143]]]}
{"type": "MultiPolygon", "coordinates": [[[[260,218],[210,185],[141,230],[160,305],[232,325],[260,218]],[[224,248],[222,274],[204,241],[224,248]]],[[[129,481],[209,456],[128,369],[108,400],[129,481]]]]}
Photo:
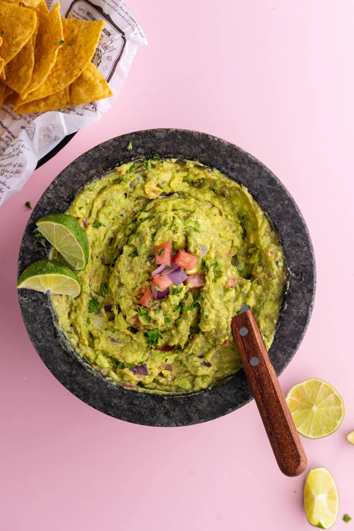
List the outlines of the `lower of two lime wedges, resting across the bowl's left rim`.
{"type": "Polygon", "coordinates": [[[36,292],[57,293],[78,297],[81,284],[77,275],[62,262],[39,260],[25,269],[18,281],[18,288],[35,289],[36,292]]]}

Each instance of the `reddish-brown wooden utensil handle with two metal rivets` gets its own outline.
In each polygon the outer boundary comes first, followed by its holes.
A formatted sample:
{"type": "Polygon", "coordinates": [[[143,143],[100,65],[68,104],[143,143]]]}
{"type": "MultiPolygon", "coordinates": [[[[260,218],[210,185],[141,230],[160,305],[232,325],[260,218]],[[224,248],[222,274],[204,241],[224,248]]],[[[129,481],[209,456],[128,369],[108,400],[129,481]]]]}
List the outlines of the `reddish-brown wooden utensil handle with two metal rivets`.
{"type": "Polygon", "coordinates": [[[307,467],[304,447],[252,311],[232,318],[231,329],[279,468],[298,476],[307,467]]]}

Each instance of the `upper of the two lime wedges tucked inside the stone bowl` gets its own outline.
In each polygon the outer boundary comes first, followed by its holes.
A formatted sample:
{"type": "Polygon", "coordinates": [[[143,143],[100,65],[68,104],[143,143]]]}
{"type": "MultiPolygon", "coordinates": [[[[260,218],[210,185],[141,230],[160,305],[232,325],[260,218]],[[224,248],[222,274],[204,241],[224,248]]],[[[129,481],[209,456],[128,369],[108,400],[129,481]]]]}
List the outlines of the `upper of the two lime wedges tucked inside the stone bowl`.
{"type": "Polygon", "coordinates": [[[76,219],[67,214],[48,214],[36,225],[72,269],[85,269],[89,259],[89,241],[76,219]]]}

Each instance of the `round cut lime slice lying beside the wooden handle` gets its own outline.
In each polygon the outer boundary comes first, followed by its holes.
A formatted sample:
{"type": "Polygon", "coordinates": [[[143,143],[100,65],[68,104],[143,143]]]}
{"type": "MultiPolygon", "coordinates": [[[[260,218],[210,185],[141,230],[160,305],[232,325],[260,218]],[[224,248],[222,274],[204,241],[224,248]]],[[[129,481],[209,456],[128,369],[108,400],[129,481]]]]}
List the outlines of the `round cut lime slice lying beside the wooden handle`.
{"type": "Polygon", "coordinates": [[[338,430],[344,417],[341,396],[329,383],[310,378],[293,386],[287,403],[297,431],[320,439],[338,430]]]}

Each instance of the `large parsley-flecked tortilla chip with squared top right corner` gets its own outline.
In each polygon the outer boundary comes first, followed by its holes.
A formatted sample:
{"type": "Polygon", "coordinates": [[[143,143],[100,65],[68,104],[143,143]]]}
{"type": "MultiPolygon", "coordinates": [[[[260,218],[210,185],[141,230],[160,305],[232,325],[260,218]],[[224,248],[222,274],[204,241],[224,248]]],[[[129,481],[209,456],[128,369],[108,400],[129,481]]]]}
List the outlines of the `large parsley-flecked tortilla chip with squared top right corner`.
{"type": "MultiPolygon", "coordinates": [[[[62,19],[65,44],[58,50],[57,60],[48,78],[23,101],[45,98],[70,85],[90,64],[105,21],[62,19]]],[[[22,102],[18,102],[18,106],[22,102]]]]}

